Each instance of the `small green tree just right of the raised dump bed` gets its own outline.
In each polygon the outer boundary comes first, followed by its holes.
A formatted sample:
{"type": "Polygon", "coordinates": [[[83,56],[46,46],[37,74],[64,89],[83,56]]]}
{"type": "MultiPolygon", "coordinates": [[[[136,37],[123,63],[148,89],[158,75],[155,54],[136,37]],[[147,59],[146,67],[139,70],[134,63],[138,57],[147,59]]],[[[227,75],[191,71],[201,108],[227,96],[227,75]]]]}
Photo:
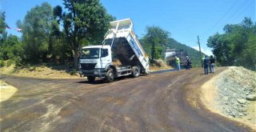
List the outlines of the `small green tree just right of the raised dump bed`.
{"type": "Polygon", "coordinates": [[[154,58],[162,58],[162,51],[165,50],[169,37],[170,33],[159,26],[146,27],[146,34],[141,40],[142,46],[151,55],[151,63],[154,58]]]}

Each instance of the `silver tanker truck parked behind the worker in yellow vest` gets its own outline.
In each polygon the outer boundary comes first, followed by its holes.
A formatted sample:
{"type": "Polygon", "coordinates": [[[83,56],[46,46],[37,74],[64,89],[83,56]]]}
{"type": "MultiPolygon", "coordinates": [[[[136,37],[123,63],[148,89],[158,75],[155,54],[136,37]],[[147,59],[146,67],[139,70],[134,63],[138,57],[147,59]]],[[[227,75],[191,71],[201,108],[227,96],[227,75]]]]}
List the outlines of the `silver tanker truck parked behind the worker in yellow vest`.
{"type": "Polygon", "coordinates": [[[178,50],[178,49],[168,49],[166,50],[165,55],[165,62],[166,64],[169,64],[169,66],[175,67],[175,56],[179,58],[180,66],[186,67],[186,56],[187,56],[186,50],[178,50]]]}

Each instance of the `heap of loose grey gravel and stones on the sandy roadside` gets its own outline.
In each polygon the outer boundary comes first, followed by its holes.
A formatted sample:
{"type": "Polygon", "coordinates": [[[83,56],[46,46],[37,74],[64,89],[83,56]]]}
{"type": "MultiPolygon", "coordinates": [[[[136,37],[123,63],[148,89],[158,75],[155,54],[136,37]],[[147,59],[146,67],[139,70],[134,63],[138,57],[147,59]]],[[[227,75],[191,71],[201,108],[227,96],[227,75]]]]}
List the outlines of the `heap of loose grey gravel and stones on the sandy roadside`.
{"type": "Polygon", "coordinates": [[[220,74],[215,82],[218,104],[222,114],[242,117],[247,107],[256,100],[256,72],[242,67],[231,67],[220,74]]]}

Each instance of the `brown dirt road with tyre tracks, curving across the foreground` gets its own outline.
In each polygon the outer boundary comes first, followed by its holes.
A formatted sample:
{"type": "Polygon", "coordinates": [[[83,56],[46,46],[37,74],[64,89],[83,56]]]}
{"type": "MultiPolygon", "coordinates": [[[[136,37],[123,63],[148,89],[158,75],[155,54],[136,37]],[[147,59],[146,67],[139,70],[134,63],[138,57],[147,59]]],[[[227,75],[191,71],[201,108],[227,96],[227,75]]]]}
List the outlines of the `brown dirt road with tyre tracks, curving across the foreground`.
{"type": "Polygon", "coordinates": [[[199,88],[213,76],[193,69],[89,84],[0,75],[18,88],[1,102],[1,131],[250,131],[202,106],[199,88]]]}

